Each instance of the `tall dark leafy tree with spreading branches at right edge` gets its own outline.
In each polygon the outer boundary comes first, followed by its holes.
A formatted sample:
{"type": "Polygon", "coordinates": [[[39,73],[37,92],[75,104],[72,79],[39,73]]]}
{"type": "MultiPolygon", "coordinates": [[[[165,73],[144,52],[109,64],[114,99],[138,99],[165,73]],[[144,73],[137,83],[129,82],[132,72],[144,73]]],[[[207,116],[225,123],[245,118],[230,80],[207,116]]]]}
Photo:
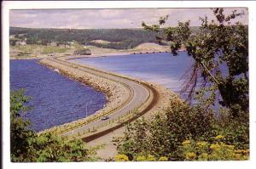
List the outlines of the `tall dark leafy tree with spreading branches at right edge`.
{"type": "MultiPolygon", "coordinates": [[[[247,25],[232,20],[244,13],[225,15],[223,8],[212,8],[216,17],[209,21],[201,18],[201,27],[193,33],[189,21],[178,22],[177,27],[160,28],[168,16],[161,17],[159,25],[146,25],[144,29],[158,33],[158,38],[171,43],[173,55],[178,55],[180,48],[186,48],[195,65],[189,82],[184,90],[189,90],[189,99],[195,88],[201,85],[215,88],[219,93],[219,103],[232,111],[233,116],[248,111],[248,31],[247,25]],[[201,81],[201,84],[199,82],[201,81]]],[[[214,102],[212,102],[214,104],[214,102]]]]}

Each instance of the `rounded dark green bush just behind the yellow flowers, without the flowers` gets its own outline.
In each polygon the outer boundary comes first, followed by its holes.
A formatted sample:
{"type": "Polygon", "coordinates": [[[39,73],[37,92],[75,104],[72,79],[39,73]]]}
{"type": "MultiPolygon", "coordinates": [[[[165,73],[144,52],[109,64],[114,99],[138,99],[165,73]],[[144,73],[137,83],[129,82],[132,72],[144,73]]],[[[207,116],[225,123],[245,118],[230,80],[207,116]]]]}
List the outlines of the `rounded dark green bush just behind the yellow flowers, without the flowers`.
{"type": "Polygon", "coordinates": [[[178,146],[184,139],[208,137],[212,130],[212,112],[184,103],[172,103],[165,114],[154,115],[150,121],[140,119],[128,126],[119,140],[119,153],[134,160],[138,155],[167,156],[177,159],[178,146]]]}

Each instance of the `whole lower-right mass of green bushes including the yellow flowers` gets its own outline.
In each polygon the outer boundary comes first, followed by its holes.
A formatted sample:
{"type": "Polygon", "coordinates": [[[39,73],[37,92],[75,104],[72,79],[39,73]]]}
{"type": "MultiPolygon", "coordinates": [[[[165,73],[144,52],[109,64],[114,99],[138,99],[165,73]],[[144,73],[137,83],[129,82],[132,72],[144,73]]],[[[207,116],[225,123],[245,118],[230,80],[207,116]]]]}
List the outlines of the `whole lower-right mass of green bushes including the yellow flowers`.
{"type": "Polygon", "coordinates": [[[177,104],[166,114],[128,126],[125,137],[116,140],[119,154],[129,161],[148,161],[147,155],[159,161],[161,156],[169,161],[247,160],[248,122],[223,118],[177,104]]]}

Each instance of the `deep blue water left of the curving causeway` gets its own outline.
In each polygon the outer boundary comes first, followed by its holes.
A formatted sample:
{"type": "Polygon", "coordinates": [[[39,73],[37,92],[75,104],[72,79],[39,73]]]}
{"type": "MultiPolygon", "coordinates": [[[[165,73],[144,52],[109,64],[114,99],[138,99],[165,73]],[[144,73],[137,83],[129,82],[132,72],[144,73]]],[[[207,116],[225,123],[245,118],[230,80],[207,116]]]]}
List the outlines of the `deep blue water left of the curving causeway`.
{"type": "Polygon", "coordinates": [[[36,132],[91,115],[102,109],[105,95],[37,63],[10,60],[10,89],[26,88],[33,109],[23,115],[36,132]],[[86,113],[87,111],[87,113],[86,113]]]}

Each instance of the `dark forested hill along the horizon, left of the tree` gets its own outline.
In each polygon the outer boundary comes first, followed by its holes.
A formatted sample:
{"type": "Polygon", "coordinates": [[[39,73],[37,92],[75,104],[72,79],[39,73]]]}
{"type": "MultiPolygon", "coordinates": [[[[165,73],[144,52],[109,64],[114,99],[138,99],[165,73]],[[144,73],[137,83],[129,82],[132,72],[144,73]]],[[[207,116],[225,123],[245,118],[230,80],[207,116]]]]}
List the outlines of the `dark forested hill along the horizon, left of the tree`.
{"type": "MultiPolygon", "coordinates": [[[[196,28],[195,28],[196,29],[196,28]]],[[[143,29],[39,29],[10,27],[10,35],[26,38],[27,44],[76,41],[99,48],[129,49],[144,42],[157,43],[155,33],[143,29]],[[101,40],[101,42],[99,42],[101,40]]],[[[20,37],[19,37],[20,38],[20,37]]]]}

